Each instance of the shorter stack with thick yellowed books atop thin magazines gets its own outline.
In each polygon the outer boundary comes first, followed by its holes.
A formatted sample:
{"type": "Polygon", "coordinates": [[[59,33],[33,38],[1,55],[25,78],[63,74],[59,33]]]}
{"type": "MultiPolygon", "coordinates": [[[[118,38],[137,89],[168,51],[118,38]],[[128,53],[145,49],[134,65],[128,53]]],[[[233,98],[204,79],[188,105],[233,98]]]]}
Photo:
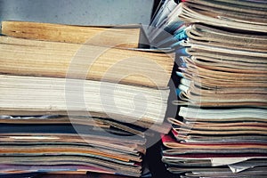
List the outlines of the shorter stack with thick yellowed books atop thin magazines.
{"type": "Polygon", "coordinates": [[[0,174],[141,176],[174,61],[138,48],[139,27],[3,21],[0,174]]]}

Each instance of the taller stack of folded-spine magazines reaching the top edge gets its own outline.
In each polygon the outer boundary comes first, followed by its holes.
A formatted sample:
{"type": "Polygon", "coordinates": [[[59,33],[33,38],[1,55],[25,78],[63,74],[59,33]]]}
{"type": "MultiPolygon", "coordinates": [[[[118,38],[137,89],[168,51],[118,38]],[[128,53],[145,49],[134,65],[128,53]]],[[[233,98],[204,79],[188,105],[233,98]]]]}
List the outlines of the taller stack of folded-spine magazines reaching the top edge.
{"type": "Polygon", "coordinates": [[[267,3],[166,1],[150,31],[177,54],[180,106],[163,162],[181,177],[266,177],[267,3]],[[164,9],[166,9],[164,11],[164,9]]]}

